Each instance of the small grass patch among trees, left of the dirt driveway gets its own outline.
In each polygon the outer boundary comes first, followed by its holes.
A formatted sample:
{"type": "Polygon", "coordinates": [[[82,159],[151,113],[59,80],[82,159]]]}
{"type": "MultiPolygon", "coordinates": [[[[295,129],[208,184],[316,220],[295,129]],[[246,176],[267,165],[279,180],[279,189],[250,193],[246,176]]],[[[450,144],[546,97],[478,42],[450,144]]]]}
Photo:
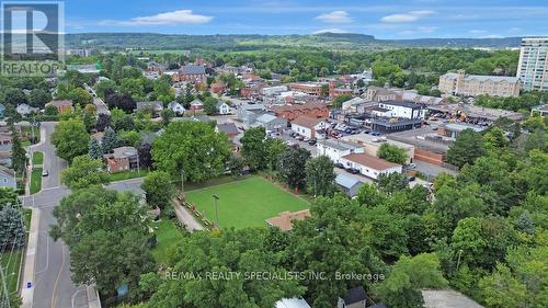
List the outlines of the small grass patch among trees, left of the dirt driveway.
{"type": "Polygon", "coordinates": [[[169,264],[169,251],[178,246],[183,239],[183,235],[173,221],[168,218],[152,223],[152,227],[156,230],[156,238],[158,240],[158,246],[152,249],[152,256],[158,264],[169,264]]]}

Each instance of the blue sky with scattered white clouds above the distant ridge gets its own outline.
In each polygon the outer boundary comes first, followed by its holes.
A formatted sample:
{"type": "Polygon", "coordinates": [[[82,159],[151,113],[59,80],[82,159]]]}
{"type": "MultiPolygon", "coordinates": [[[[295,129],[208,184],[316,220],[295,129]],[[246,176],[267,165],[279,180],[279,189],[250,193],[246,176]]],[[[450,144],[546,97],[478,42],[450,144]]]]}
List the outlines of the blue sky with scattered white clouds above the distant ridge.
{"type": "Polygon", "coordinates": [[[67,33],[548,35],[548,0],[66,0],[67,33]]]}

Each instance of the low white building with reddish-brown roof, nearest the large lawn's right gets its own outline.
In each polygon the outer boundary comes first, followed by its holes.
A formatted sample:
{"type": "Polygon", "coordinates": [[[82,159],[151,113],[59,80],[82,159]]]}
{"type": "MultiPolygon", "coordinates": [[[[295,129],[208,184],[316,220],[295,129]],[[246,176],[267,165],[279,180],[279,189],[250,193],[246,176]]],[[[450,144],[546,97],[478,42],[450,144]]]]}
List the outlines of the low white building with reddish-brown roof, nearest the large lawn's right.
{"type": "Polygon", "coordinates": [[[377,180],[383,173],[402,172],[401,164],[388,162],[366,153],[352,153],[341,158],[341,163],[346,168],[359,170],[365,176],[377,180]]]}

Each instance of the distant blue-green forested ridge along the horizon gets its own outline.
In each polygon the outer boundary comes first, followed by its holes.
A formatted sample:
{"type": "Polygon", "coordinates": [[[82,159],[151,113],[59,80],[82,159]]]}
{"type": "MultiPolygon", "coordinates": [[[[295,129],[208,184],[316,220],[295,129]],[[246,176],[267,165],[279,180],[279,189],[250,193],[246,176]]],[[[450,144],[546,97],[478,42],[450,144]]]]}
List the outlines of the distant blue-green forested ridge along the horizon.
{"type": "Polygon", "coordinates": [[[377,49],[395,47],[506,48],[520,46],[521,37],[505,38],[414,38],[377,39],[354,33],[311,35],[179,35],[155,33],[80,33],[67,34],[68,48],[103,49],[216,49],[253,50],[266,47],[317,47],[330,49],[377,49]]]}

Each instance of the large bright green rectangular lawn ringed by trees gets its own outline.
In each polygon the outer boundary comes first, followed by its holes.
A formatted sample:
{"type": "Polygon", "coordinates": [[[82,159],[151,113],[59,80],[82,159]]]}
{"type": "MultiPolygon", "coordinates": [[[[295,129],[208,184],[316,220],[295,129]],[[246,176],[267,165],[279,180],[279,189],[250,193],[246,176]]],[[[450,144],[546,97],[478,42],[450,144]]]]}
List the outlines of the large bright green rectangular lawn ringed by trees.
{"type": "Polygon", "coordinates": [[[310,204],[269,182],[253,176],[243,181],[221,184],[187,192],[187,199],[206,212],[209,221],[215,221],[213,195],[219,197],[219,225],[221,228],[265,227],[265,220],[284,210],[300,210],[310,204]]]}

